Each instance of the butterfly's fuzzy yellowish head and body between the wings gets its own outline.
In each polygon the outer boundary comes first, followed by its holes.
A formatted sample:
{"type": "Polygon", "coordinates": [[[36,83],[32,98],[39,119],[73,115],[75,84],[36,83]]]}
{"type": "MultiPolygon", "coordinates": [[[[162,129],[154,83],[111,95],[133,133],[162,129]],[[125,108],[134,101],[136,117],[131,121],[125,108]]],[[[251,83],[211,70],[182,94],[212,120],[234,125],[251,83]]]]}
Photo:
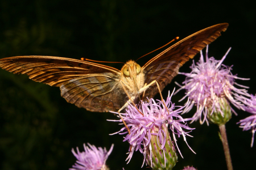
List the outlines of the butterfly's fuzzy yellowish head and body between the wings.
{"type": "Polygon", "coordinates": [[[132,100],[137,99],[139,90],[144,86],[144,73],[141,66],[133,60],[127,61],[122,69],[122,84],[132,100]]]}

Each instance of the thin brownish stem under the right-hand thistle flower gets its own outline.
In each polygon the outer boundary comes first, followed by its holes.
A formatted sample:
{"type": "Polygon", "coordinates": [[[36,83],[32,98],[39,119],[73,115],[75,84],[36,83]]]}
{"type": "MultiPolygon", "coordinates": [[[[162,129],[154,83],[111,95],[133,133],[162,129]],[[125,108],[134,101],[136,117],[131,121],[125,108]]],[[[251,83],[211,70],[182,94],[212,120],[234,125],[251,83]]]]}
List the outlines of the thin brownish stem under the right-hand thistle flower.
{"type": "Polygon", "coordinates": [[[225,125],[220,125],[218,127],[220,128],[221,142],[222,142],[225,157],[226,157],[226,165],[228,166],[228,170],[233,170],[231,156],[230,156],[230,152],[229,152],[228,138],[226,137],[225,125]]]}

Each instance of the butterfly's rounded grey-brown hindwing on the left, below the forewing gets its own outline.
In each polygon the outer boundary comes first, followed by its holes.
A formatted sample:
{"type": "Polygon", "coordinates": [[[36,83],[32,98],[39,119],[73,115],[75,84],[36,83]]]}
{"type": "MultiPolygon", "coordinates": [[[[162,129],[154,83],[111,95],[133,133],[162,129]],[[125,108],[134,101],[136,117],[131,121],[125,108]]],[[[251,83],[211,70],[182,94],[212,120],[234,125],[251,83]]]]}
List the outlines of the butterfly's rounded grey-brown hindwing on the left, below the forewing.
{"type": "Polygon", "coordinates": [[[119,79],[112,73],[80,76],[60,87],[61,96],[92,112],[118,111],[128,100],[119,79]]]}

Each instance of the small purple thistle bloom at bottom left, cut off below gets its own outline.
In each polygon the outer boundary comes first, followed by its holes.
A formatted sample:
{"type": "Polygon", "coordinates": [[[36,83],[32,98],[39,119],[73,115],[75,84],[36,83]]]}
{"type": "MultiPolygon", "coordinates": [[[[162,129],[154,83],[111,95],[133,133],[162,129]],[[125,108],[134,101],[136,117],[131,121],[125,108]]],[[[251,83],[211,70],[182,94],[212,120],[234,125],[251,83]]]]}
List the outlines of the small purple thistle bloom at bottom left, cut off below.
{"type": "Polygon", "coordinates": [[[77,147],[77,153],[72,148],[72,153],[76,157],[77,161],[75,165],[72,165],[73,168],[69,170],[106,170],[108,167],[106,166],[106,160],[108,159],[110,153],[113,150],[114,145],[112,144],[109,151],[106,148],[95,147],[94,145],[90,145],[87,143],[88,146],[84,144],[84,150],[80,152],[79,148],[77,147]]]}

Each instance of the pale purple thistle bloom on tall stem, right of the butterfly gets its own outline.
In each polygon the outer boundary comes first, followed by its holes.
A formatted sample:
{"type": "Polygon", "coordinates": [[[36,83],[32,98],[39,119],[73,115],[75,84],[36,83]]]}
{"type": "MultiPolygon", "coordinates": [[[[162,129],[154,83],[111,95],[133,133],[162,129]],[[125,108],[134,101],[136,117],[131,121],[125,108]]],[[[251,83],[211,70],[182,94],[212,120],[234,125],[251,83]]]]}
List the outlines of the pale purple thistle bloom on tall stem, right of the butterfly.
{"type": "Polygon", "coordinates": [[[206,61],[204,61],[203,53],[200,51],[200,61],[196,64],[193,61],[191,73],[179,73],[187,76],[183,82],[184,86],[176,83],[180,86],[178,91],[181,89],[187,91],[183,99],[187,96],[189,98],[189,103],[184,113],[189,112],[194,105],[197,107],[197,111],[193,115],[193,121],[200,120],[200,124],[206,121],[208,124],[207,116],[213,113],[220,113],[224,117],[224,113],[229,112],[231,117],[231,111],[235,114],[236,112],[230,107],[229,103],[232,103],[238,109],[242,109],[243,104],[240,101],[240,95],[249,96],[244,89],[248,87],[235,82],[236,79],[248,79],[238,78],[231,73],[232,66],[229,67],[222,64],[229,50],[221,60],[216,60],[213,57],[208,58],[207,46],[206,61]],[[240,86],[243,89],[237,88],[234,85],[240,86]],[[236,99],[234,99],[235,96],[236,99]]]}

